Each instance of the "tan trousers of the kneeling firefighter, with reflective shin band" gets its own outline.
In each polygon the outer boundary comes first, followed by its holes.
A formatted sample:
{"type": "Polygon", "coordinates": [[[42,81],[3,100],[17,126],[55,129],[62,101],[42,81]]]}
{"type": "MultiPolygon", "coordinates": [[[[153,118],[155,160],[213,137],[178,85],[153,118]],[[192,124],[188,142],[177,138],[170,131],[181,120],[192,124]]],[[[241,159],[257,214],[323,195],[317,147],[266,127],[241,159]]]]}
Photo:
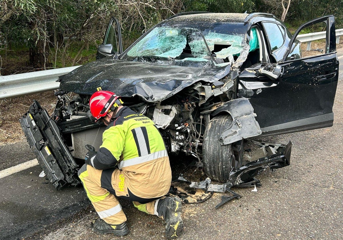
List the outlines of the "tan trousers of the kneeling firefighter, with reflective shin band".
{"type": "MultiPolygon", "coordinates": [[[[170,184],[169,186],[166,184],[165,189],[152,188],[155,196],[147,199],[136,196],[130,191],[130,184],[127,184],[129,181],[126,181],[123,172],[117,168],[97,170],[84,164],[78,175],[95,211],[101,219],[111,225],[126,221],[126,216],[116,196],[132,201],[134,206],[142,212],[158,216],[155,202],[161,197],[164,198],[170,187],[170,184]]],[[[139,192],[139,189],[134,189],[134,192],[139,192]]]]}

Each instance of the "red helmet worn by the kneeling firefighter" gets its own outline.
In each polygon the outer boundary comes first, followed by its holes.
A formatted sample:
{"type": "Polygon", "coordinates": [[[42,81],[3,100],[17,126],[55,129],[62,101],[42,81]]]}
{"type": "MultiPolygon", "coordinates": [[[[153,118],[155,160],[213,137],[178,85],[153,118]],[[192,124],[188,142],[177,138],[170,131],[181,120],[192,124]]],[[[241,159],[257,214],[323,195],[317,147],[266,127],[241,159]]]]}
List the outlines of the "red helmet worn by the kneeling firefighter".
{"type": "Polygon", "coordinates": [[[97,120],[106,116],[111,106],[115,108],[119,107],[123,102],[120,100],[120,96],[109,91],[95,92],[89,100],[89,106],[92,116],[97,120]]]}

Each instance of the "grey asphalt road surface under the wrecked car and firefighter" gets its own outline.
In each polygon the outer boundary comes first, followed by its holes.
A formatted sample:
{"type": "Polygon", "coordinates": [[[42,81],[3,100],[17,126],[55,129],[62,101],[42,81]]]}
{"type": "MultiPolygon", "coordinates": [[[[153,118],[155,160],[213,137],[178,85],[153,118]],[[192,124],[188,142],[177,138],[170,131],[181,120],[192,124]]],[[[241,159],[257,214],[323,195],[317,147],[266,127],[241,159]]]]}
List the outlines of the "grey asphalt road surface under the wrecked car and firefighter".
{"type": "MultiPolygon", "coordinates": [[[[265,171],[262,187],[233,189],[243,197],[215,209],[224,194],[184,204],[181,239],[342,239],[343,49],[333,127],[274,136],[293,142],[291,166],[265,171]]],[[[304,103],[307,104],[307,103],[304,103]]],[[[26,142],[0,146],[0,170],[35,158],[26,142]]],[[[193,176],[194,168],[173,166],[193,176]]],[[[96,217],[82,188],[56,191],[35,166],[0,179],[0,239],[108,239],[90,229],[96,217]]],[[[193,179],[196,180],[196,179],[193,179]]],[[[130,233],[122,239],[164,239],[164,223],[120,200],[130,233]]],[[[116,238],[114,238],[116,239],[116,238]]]]}

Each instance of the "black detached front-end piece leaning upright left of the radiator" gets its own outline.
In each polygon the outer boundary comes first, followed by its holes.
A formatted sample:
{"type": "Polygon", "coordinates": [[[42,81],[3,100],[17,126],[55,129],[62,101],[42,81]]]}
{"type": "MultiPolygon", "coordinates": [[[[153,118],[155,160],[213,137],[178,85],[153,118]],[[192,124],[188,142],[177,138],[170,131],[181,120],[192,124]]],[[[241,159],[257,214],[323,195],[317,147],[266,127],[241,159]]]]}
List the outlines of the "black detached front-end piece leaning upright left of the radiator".
{"type": "Polygon", "coordinates": [[[78,164],[64,145],[56,123],[36,100],[19,122],[39,165],[55,188],[79,184],[78,164]]]}

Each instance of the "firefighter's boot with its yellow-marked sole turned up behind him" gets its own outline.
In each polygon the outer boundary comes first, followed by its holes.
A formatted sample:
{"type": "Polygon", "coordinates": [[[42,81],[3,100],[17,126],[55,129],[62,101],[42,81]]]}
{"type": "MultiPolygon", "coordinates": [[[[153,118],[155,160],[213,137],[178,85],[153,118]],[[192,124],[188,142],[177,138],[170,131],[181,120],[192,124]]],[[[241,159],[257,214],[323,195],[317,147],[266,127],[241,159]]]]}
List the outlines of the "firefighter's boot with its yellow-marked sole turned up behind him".
{"type": "Polygon", "coordinates": [[[181,200],[177,197],[159,199],[156,209],[158,216],[166,221],[166,238],[176,238],[182,232],[181,200]]]}

